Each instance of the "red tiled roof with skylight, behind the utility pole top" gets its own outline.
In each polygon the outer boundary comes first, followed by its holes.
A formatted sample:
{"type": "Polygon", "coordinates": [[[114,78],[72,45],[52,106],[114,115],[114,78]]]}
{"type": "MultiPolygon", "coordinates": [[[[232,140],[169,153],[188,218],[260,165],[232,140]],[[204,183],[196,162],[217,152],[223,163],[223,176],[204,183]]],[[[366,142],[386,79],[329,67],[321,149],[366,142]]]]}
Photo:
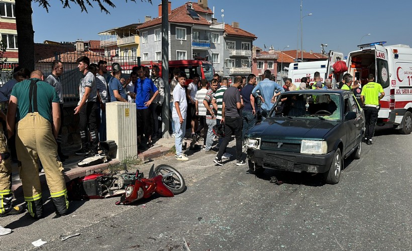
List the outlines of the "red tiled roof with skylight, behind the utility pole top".
{"type": "MultiPolygon", "coordinates": [[[[195,6],[195,4],[192,3],[192,8],[194,6],[195,6]]],[[[199,6],[197,6],[197,7],[202,9],[199,6]]],[[[211,23],[209,23],[207,20],[205,20],[201,16],[199,16],[199,20],[192,19],[189,16],[189,13],[186,10],[186,4],[172,10],[172,12],[169,14],[169,23],[211,25],[211,23]]],[[[147,21],[147,22],[143,23],[142,25],[138,26],[137,29],[140,30],[140,29],[149,28],[149,27],[152,27],[152,26],[160,25],[160,24],[162,24],[162,17],[158,17],[158,18],[152,19],[150,21],[147,21]]]]}

